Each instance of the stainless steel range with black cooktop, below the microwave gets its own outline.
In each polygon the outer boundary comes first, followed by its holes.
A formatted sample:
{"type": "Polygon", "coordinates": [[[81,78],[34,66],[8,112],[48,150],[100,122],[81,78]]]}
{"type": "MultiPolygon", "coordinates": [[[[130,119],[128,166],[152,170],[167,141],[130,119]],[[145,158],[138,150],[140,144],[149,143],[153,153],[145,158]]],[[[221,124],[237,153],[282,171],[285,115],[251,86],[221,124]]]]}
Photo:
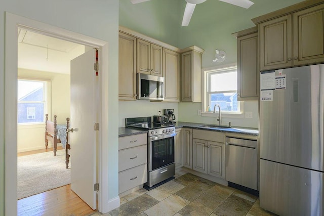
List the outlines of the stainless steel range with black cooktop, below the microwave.
{"type": "Polygon", "coordinates": [[[148,181],[147,190],[174,179],[175,126],[151,122],[151,117],[126,118],[126,126],[148,131],[148,181]]]}

